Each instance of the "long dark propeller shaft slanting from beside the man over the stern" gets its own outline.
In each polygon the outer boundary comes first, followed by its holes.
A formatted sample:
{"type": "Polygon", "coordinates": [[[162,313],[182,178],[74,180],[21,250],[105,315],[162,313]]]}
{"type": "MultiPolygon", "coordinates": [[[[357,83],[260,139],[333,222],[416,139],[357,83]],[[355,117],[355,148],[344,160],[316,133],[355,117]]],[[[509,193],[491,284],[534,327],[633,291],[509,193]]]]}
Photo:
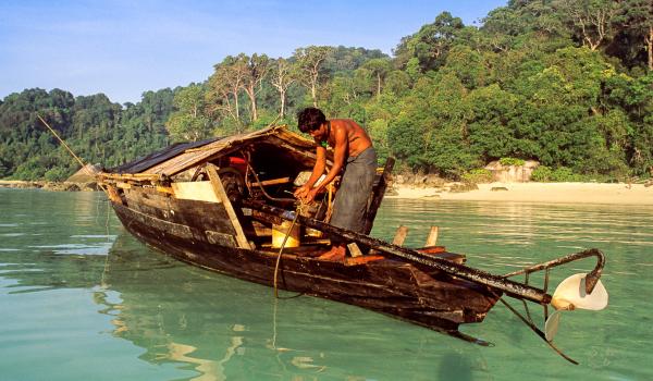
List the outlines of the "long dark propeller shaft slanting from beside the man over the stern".
{"type": "Polygon", "coordinates": [[[451,262],[446,259],[427,256],[417,250],[407,247],[396,246],[387,242],[383,242],[381,239],[372,238],[365,234],[353,232],[347,229],[333,226],[331,224],[324,223],[316,219],[311,219],[304,216],[296,216],[296,213],[292,210],[271,207],[251,200],[243,200],[243,206],[267,214],[276,216],[289,221],[293,221],[296,218],[297,222],[305,226],[312,228],[324,233],[334,234],[345,239],[367,245],[393,257],[398,257],[410,262],[428,266],[452,274],[454,276],[458,276],[470,282],[475,282],[497,291],[505,292],[508,296],[513,296],[520,299],[528,299],[541,305],[547,305],[551,303],[551,295],[546,294],[541,288],[510,281],[504,279],[503,276],[493,275],[489,272],[473,269],[465,265],[451,262]]]}

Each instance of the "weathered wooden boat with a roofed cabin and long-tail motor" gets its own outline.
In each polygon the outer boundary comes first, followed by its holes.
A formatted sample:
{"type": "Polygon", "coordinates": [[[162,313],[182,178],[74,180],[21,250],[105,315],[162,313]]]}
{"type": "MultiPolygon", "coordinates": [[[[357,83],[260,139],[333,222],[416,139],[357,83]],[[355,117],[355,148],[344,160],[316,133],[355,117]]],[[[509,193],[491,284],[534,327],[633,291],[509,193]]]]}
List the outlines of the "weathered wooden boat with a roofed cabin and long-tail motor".
{"type": "MultiPolygon", "coordinates": [[[[328,157],[329,160],[332,157],[328,157]]],[[[458,331],[480,322],[503,295],[547,306],[544,288],[509,280],[595,256],[588,250],[521,272],[492,275],[440,246],[410,249],[368,236],[392,171],[378,171],[364,234],[328,223],[332,192],[297,210],[292,192],[315,163],[315,146],[284,126],[155,152],[98,175],[125,229],[175,258],[250,282],[360,306],[472,340],[458,331]],[[320,260],[329,237],[349,242],[343,262],[320,260]],[[362,250],[365,251],[365,250],[362,250]]],[[[530,315],[529,315],[530,317],[530,315]]],[[[533,327],[531,327],[533,328],[533,327]]]]}

